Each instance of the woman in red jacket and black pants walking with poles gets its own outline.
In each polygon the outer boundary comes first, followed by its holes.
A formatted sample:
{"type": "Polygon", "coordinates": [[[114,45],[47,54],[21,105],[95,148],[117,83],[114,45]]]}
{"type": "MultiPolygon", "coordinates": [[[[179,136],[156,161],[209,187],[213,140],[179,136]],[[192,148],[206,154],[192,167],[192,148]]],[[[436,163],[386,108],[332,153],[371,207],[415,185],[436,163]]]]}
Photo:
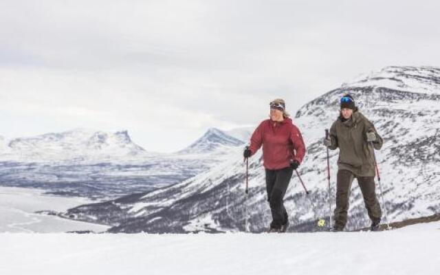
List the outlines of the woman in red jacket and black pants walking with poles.
{"type": "Polygon", "coordinates": [[[283,198],[294,169],[303,161],[305,144],[298,127],[285,111],[282,99],[270,102],[270,119],[264,120],[255,129],[250,146],[245,148],[243,156],[254,155],[262,145],[267,201],[272,212],[268,232],[286,232],[289,217],[283,198]]]}

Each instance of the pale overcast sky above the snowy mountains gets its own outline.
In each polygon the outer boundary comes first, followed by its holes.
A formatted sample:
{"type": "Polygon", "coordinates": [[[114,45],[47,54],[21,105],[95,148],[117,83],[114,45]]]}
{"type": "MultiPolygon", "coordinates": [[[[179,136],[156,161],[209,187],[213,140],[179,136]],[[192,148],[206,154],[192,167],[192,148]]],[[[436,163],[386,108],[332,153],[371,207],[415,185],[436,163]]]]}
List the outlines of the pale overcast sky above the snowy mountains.
{"type": "Polygon", "coordinates": [[[148,151],[440,65],[439,1],[0,1],[0,135],[126,129],[148,151]]]}

